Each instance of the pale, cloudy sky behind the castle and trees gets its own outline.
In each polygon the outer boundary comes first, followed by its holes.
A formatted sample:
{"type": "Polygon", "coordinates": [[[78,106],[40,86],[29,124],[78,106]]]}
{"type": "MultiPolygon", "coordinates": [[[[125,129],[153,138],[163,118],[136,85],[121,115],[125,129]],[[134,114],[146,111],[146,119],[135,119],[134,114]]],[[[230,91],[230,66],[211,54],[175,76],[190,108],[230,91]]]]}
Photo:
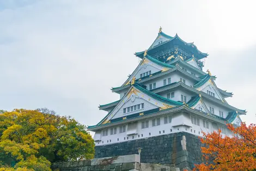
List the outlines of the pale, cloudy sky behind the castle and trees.
{"type": "Polygon", "coordinates": [[[256,123],[254,1],[0,0],[0,109],[47,107],[95,125],[159,27],[209,53],[204,71],[256,123]]]}

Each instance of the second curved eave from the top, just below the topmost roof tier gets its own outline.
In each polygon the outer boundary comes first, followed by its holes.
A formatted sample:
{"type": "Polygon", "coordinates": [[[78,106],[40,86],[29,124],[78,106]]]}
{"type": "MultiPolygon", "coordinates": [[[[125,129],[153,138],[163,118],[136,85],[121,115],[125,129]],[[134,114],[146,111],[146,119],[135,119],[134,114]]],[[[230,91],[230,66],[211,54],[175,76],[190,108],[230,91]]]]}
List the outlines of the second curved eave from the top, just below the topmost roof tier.
{"type": "MultiPolygon", "coordinates": [[[[181,72],[182,74],[188,76],[188,77],[191,77],[193,80],[195,81],[200,81],[202,80],[201,78],[199,77],[196,77],[196,76],[193,76],[192,74],[182,70],[179,66],[175,66],[173,69],[170,69],[168,71],[159,71],[159,72],[155,72],[154,74],[151,74],[149,76],[145,76],[145,77],[142,77],[142,78],[139,78],[137,79],[135,82],[137,83],[143,83],[143,82],[147,82],[147,81],[150,81],[150,80],[153,80],[155,78],[158,78],[158,77],[161,77],[161,76],[164,76],[164,75],[167,75],[167,74],[170,74],[171,72],[174,72],[174,71],[179,71],[181,72]]],[[[121,86],[121,87],[115,87],[115,88],[112,88],[112,92],[114,93],[120,93],[120,91],[124,90],[124,89],[128,89],[130,87],[130,84],[127,85],[127,86],[121,86]]]]}

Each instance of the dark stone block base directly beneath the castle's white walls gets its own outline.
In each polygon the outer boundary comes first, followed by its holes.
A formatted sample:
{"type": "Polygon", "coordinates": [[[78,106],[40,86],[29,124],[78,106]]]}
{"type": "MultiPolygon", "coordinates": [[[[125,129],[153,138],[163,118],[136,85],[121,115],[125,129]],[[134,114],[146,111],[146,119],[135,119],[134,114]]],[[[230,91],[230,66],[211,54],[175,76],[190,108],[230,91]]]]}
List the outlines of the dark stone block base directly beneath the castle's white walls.
{"type": "Polygon", "coordinates": [[[117,144],[95,146],[95,158],[136,154],[142,148],[142,163],[169,164],[171,167],[193,168],[202,162],[202,143],[187,132],[172,133],[117,144]],[[183,139],[183,141],[182,141],[183,139]]]}

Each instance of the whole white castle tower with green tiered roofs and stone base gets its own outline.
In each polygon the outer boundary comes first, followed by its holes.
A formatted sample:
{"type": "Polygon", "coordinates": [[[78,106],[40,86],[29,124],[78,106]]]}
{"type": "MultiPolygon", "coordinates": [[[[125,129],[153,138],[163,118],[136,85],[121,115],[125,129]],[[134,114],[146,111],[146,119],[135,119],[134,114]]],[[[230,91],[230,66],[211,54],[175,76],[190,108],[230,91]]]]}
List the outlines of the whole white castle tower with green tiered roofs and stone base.
{"type": "MultiPolygon", "coordinates": [[[[160,28],[148,50],[135,55],[141,58],[137,68],[123,85],[112,88],[120,99],[100,105],[106,117],[88,127],[95,132],[96,157],[132,154],[140,147],[142,162],[179,165],[173,154],[184,150],[179,145],[184,135],[188,143],[203,136],[202,130],[221,129],[223,136],[230,136],[226,124],[241,124],[246,111],[225,101],[233,94],[218,88],[216,77],[202,70],[208,54],[193,43],[160,28]]],[[[193,144],[188,149],[193,151],[193,144]]]]}

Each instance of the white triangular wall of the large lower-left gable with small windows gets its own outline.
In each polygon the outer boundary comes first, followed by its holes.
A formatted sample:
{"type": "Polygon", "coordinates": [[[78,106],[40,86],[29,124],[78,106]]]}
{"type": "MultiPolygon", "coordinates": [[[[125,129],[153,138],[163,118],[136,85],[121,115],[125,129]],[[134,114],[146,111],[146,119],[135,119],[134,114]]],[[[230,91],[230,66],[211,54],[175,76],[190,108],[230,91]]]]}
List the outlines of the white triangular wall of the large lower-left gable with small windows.
{"type": "Polygon", "coordinates": [[[120,107],[118,112],[115,113],[115,115],[113,116],[112,119],[120,118],[120,117],[126,117],[127,115],[134,114],[134,113],[149,111],[149,110],[154,109],[154,108],[158,108],[158,107],[153,105],[152,103],[142,99],[141,97],[135,97],[135,101],[133,101],[133,102],[132,102],[131,99],[127,100],[124,103],[124,105],[120,107]],[[127,112],[127,109],[126,109],[126,113],[124,113],[123,108],[139,105],[141,103],[144,103],[144,108],[143,109],[141,108],[141,109],[133,111],[133,112],[127,112]]]}

